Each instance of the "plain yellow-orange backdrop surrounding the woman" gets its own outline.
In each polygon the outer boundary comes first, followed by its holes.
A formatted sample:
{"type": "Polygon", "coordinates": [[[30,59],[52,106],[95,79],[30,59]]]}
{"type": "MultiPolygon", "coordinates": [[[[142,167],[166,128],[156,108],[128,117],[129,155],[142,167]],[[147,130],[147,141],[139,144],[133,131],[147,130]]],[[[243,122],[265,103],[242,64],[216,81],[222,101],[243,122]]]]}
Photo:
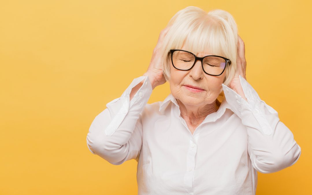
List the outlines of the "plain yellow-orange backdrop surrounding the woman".
{"type": "MultiPolygon", "coordinates": [[[[234,16],[247,81],[302,148],[292,167],[258,174],[257,195],[311,194],[312,4],[247,0],[2,1],[0,194],[137,194],[136,161],[108,163],[91,154],[86,135],[190,5],[234,16]]],[[[169,92],[158,86],[148,103],[169,92]]]]}

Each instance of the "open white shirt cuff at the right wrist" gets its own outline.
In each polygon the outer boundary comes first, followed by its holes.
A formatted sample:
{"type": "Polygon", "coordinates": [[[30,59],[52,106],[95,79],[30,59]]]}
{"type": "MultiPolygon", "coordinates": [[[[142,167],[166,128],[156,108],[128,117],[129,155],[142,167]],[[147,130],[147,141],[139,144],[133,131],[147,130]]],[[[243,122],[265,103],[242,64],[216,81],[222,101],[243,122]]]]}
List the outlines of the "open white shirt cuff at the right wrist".
{"type": "Polygon", "coordinates": [[[242,76],[239,78],[248,102],[234,90],[222,84],[226,101],[230,104],[231,110],[246,123],[248,123],[247,120],[252,121],[250,117],[256,119],[257,129],[261,130],[263,134],[271,135],[273,128],[268,122],[267,115],[273,115],[274,120],[279,120],[277,112],[260,99],[256,90],[242,76]]]}

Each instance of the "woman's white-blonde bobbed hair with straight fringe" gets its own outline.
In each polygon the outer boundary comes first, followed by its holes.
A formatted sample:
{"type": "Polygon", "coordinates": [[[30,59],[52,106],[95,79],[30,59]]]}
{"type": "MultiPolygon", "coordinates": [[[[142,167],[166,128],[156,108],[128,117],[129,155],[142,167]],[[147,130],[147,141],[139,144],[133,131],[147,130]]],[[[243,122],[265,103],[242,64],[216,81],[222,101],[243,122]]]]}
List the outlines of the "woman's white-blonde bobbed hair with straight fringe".
{"type": "Polygon", "coordinates": [[[188,6],[178,11],[168,22],[171,26],[160,48],[163,75],[170,79],[170,49],[181,49],[192,53],[209,51],[212,55],[231,60],[226,66],[224,85],[229,85],[236,71],[237,25],[233,16],[224,10],[205,12],[199,7],[188,6]]]}

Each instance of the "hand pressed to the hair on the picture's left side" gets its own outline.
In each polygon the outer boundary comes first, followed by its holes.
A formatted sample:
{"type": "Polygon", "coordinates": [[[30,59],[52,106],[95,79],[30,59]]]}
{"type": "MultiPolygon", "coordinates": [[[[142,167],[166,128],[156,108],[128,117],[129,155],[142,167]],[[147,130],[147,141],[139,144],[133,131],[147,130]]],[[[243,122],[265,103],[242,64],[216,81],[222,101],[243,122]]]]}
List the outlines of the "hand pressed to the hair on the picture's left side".
{"type": "Polygon", "coordinates": [[[163,44],[163,39],[167,34],[168,30],[171,26],[164,28],[158,37],[158,42],[156,47],[153,50],[152,59],[150,61],[149,67],[147,71],[143,74],[144,76],[149,76],[149,80],[152,84],[152,88],[154,89],[158,85],[162,85],[166,82],[165,77],[163,76],[162,64],[161,64],[161,54],[160,48],[163,44]]]}

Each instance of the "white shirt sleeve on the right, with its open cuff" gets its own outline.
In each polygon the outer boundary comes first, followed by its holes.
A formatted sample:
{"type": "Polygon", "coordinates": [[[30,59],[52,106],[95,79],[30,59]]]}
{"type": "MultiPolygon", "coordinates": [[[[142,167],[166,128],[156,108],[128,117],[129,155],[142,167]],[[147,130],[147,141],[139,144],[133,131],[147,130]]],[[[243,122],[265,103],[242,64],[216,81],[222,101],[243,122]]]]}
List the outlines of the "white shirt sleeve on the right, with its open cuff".
{"type": "Polygon", "coordinates": [[[294,135],[242,76],[240,83],[248,102],[226,85],[222,84],[222,88],[231,110],[246,126],[252,166],[261,173],[273,173],[292,166],[301,155],[294,135]]]}

